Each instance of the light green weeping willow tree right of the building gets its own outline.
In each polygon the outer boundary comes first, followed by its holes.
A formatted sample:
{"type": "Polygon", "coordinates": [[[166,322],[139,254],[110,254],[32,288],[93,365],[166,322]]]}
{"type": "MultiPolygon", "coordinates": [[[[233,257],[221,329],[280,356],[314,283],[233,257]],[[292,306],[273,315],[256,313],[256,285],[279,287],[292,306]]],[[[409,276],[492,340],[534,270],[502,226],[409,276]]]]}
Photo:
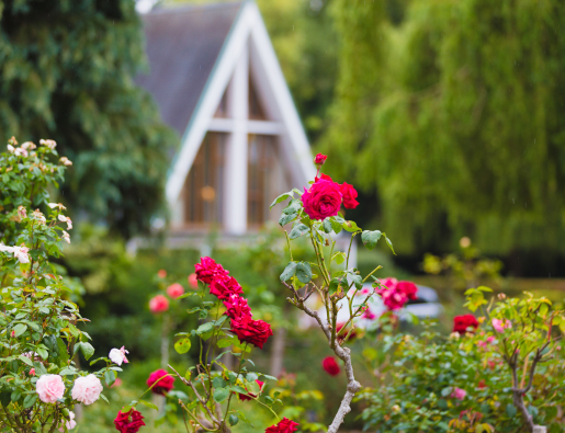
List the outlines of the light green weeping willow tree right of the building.
{"type": "Polygon", "coordinates": [[[398,250],[465,235],[494,254],[565,252],[565,4],[413,0],[394,25],[381,2],[357,3],[335,4],[324,145],[377,192],[398,250]]]}

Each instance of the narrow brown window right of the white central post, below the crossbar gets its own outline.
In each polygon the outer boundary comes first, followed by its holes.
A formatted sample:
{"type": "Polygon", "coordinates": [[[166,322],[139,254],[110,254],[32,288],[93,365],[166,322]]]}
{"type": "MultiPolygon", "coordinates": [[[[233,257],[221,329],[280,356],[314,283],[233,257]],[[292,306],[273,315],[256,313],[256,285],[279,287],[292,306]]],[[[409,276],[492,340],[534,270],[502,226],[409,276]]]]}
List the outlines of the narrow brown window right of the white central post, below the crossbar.
{"type": "Polygon", "coordinates": [[[269,217],[271,169],[276,139],[265,135],[249,136],[249,161],[247,171],[247,223],[249,227],[261,226],[269,217]]]}

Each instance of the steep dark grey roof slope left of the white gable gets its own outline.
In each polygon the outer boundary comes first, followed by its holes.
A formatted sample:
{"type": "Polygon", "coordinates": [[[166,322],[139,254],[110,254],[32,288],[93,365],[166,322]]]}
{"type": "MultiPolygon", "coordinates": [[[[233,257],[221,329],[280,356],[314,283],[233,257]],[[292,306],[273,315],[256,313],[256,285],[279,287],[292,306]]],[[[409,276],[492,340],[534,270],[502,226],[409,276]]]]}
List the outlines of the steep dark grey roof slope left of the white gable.
{"type": "Polygon", "coordinates": [[[182,136],[241,2],[157,9],[142,15],[150,70],[136,82],[182,136]]]}

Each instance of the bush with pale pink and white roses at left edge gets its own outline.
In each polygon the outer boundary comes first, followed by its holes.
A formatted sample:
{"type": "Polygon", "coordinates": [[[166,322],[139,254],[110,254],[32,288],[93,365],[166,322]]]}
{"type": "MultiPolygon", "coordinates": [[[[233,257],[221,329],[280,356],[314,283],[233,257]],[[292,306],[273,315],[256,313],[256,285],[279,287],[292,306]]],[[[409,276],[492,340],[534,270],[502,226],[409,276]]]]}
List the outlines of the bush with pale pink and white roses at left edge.
{"type": "Polygon", "coordinates": [[[0,425],[21,433],[68,431],[77,402],[91,404],[121,371],[110,358],[91,374],[76,360],[94,352],[77,324],[77,287],[52,263],[70,243],[72,221],[49,189],[72,163],[54,140],[41,146],[12,138],[0,153],[0,425]],[[102,380],[101,380],[102,379],[102,380]]]}

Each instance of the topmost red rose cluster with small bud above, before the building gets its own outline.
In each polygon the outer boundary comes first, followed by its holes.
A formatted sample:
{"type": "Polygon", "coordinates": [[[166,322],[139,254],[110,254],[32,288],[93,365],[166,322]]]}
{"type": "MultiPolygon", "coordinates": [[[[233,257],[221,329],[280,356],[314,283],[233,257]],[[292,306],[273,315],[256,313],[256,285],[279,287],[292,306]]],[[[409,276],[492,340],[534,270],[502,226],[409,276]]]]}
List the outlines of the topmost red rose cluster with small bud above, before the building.
{"type": "MultiPolygon", "coordinates": [[[[316,157],[324,157],[319,155],[316,157]]],[[[319,158],[320,166],[326,160],[319,158]]],[[[304,204],[304,212],[312,219],[325,219],[327,217],[336,216],[339,213],[341,205],[347,209],[354,209],[359,202],[357,201],[358,193],[353,185],[346,182],[339,184],[327,175],[321,174],[316,176],[314,184],[308,189],[304,189],[302,202],[304,204]]]]}

